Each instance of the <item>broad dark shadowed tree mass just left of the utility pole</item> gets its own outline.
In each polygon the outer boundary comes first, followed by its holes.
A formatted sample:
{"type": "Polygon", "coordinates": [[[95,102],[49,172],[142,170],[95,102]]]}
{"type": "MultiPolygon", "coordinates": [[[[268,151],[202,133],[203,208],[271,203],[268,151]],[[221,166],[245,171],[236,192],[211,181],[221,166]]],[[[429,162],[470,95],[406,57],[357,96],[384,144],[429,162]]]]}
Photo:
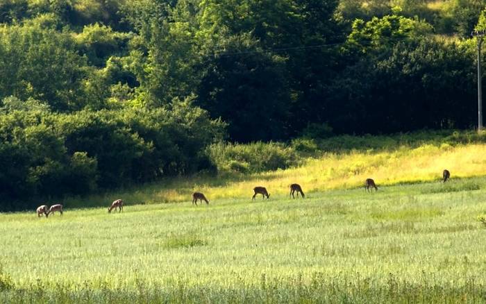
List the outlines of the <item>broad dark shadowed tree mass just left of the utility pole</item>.
{"type": "Polygon", "coordinates": [[[360,133],[376,133],[383,126],[387,133],[471,126],[467,118],[474,117],[475,108],[474,83],[467,81],[475,73],[468,63],[471,49],[424,39],[370,51],[330,85],[325,105],[333,112],[328,124],[336,133],[351,133],[358,121],[360,133]]]}

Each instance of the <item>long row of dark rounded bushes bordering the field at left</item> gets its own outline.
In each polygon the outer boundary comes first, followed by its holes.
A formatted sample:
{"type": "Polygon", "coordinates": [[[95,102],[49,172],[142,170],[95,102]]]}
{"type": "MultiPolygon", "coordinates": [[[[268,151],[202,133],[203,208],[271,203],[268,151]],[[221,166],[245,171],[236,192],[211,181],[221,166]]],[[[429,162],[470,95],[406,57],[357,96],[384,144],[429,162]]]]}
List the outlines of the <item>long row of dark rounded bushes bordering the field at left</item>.
{"type": "Polygon", "coordinates": [[[167,109],[74,114],[22,110],[16,102],[6,99],[0,111],[0,193],[8,200],[82,195],[210,169],[206,146],[224,137],[224,124],[190,99],[167,109]]]}

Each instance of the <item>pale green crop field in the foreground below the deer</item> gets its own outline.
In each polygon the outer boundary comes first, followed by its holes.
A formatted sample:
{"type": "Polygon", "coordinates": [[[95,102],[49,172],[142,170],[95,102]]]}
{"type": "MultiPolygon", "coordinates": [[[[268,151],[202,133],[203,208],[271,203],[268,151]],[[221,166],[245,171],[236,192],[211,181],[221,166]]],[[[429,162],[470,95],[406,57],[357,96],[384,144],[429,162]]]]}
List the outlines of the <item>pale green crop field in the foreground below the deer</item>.
{"type": "MultiPolygon", "coordinates": [[[[440,153],[434,159],[444,167],[440,153]]],[[[300,200],[276,191],[268,201],[246,193],[197,207],[127,205],[121,214],[0,214],[0,301],[486,301],[478,221],[486,178],[383,184],[376,193],[333,189],[300,200]]]]}

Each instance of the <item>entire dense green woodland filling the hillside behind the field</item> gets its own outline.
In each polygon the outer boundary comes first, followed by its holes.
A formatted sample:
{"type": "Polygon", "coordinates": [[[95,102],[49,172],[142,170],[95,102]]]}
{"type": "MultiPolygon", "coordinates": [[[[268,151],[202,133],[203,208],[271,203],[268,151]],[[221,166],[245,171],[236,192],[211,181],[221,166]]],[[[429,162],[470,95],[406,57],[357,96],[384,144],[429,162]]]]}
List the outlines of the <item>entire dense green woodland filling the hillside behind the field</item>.
{"type": "Polygon", "coordinates": [[[471,128],[485,6],[0,0],[1,209],[213,171],[224,140],[471,128]]]}

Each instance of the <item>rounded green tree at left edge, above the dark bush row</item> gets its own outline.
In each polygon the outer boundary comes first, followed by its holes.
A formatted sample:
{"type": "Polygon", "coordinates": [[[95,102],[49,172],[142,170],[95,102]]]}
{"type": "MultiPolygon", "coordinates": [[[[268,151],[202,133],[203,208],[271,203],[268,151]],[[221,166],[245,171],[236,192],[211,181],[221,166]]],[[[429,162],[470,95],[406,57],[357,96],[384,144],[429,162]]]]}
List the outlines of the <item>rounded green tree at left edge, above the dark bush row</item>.
{"type": "Polygon", "coordinates": [[[86,62],[69,33],[33,24],[2,27],[0,36],[0,58],[8,58],[0,60],[0,98],[37,99],[56,110],[81,108],[86,62]]]}

